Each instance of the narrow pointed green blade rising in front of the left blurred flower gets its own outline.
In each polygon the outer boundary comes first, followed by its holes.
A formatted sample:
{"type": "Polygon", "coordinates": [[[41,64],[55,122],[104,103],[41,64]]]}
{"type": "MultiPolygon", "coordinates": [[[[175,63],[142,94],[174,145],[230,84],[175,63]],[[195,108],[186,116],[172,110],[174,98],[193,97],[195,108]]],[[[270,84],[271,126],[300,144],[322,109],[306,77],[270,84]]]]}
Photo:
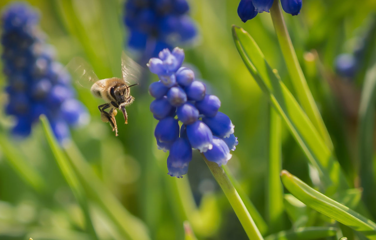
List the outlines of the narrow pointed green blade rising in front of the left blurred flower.
{"type": "Polygon", "coordinates": [[[90,210],[88,206],[88,201],[85,196],[85,192],[81,184],[79,183],[76,174],[74,174],[74,171],[70,166],[70,163],[65,157],[64,152],[61,150],[55,136],[53,135],[51,126],[47,118],[42,115],[40,116],[40,120],[42,122],[42,128],[47,138],[47,142],[51,148],[53,155],[55,156],[56,163],[58,163],[59,169],[62,175],[64,176],[65,181],[67,181],[70,189],[73,192],[74,197],[77,199],[77,202],[82,208],[82,212],[85,216],[86,230],[89,232],[92,239],[98,240],[99,238],[97,237],[94,226],[92,225],[90,210]]]}

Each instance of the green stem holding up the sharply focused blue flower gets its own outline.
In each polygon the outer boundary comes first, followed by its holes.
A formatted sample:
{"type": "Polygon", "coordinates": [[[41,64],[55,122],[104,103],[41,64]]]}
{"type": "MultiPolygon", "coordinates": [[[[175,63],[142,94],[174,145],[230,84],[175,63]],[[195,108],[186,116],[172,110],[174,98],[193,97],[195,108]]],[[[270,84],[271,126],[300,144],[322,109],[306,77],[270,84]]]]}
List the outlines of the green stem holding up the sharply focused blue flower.
{"type": "Polygon", "coordinates": [[[238,216],[238,219],[244,228],[244,231],[246,231],[248,238],[251,240],[264,240],[246,206],[244,205],[243,200],[240,198],[237,190],[231,183],[223,168],[219,167],[217,163],[206,160],[204,155],[202,155],[202,157],[212,172],[215,180],[223,190],[224,195],[226,195],[227,199],[229,200],[235,214],[238,216]]]}

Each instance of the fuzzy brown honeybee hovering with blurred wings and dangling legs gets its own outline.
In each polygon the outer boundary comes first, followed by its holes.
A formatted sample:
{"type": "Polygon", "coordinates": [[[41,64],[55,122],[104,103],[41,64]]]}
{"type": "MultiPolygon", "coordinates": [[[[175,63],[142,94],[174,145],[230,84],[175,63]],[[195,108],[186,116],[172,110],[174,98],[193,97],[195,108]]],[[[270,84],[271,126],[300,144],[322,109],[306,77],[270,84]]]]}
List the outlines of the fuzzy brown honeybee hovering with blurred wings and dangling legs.
{"type": "Polygon", "coordinates": [[[130,87],[138,85],[138,83],[131,85],[129,81],[135,82],[138,80],[141,67],[123,52],[121,55],[122,78],[111,77],[99,80],[94,71],[80,58],[71,60],[68,63],[68,68],[71,68],[73,74],[77,76],[79,85],[83,86],[82,84],[91,83],[91,93],[95,97],[106,101],[105,104],[98,106],[100,118],[103,122],[109,122],[112,131],[115,131],[115,136],[118,136],[115,120],[117,109],[121,110],[124,116],[124,123],[127,124],[128,115],[125,108],[135,100],[130,95],[130,87]]]}

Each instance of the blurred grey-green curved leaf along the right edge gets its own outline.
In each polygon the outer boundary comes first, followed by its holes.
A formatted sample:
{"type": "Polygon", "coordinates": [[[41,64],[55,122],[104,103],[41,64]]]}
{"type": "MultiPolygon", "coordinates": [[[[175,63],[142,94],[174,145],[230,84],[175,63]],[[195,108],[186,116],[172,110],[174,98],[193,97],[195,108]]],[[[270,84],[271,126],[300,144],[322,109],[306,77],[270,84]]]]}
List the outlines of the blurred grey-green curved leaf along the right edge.
{"type": "Polygon", "coordinates": [[[376,103],[376,65],[368,72],[364,80],[358,126],[358,151],[360,160],[361,186],[363,187],[363,199],[370,213],[376,218],[376,179],[374,169],[374,121],[376,103]]]}

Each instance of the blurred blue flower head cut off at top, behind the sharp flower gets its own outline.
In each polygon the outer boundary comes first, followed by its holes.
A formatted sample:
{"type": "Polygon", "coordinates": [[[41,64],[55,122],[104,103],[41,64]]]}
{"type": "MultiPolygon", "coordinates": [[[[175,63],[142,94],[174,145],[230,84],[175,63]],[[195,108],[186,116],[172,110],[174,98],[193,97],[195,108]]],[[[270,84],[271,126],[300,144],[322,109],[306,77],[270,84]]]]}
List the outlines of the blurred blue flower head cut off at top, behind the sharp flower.
{"type": "Polygon", "coordinates": [[[127,0],[124,23],[130,30],[128,46],[148,60],[164,48],[190,41],[196,36],[196,27],[188,10],[186,0],[127,0]]]}

